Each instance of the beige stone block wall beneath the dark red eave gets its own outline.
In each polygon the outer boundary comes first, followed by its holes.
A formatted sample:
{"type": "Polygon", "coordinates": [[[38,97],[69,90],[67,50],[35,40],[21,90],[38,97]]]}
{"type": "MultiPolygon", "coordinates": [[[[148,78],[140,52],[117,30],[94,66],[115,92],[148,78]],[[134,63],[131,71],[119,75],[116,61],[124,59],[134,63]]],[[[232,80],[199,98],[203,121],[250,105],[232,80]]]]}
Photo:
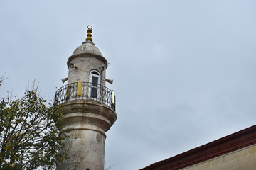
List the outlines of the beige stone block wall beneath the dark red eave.
{"type": "Polygon", "coordinates": [[[256,170],[256,145],[181,170],[256,170]]]}

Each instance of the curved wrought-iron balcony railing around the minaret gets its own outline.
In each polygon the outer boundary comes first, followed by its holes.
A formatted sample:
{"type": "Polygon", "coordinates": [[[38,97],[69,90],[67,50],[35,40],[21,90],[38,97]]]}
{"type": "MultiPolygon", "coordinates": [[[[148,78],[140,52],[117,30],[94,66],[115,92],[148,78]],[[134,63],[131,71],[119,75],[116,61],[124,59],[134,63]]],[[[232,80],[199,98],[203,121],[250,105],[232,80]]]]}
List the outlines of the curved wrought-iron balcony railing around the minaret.
{"type": "Polygon", "coordinates": [[[100,84],[78,81],[60,87],[55,93],[54,103],[62,104],[67,101],[97,101],[115,111],[114,91],[100,84]]]}

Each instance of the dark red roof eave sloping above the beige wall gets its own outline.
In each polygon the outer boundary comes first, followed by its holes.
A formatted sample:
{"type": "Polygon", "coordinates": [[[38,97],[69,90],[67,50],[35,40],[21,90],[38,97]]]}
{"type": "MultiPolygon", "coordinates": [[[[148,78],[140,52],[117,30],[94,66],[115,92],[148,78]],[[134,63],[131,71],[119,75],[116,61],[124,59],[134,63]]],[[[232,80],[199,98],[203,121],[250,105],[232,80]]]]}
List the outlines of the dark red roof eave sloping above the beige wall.
{"type": "Polygon", "coordinates": [[[169,159],[156,162],[140,170],[182,169],[254,144],[256,144],[256,125],[169,159]]]}

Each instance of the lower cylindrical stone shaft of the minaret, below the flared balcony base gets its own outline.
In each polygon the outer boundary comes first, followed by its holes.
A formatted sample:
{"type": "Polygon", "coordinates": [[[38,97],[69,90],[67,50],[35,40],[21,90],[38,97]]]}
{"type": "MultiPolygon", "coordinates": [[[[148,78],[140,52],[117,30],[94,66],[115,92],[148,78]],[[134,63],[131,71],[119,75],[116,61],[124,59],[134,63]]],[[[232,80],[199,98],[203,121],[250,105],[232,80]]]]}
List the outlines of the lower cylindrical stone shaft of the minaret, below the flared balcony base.
{"type": "Polygon", "coordinates": [[[71,130],[65,141],[70,159],[58,165],[58,169],[104,169],[105,136],[92,130],[71,130]],[[100,138],[100,140],[99,140],[100,138]]]}

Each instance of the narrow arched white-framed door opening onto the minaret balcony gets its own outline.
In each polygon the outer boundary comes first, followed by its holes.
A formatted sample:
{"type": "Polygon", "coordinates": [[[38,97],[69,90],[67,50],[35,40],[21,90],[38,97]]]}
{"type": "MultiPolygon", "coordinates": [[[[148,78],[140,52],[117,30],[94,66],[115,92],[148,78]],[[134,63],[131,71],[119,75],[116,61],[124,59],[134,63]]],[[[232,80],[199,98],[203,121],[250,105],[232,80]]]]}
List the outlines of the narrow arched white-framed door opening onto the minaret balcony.
{"type": "Polygon", "coordinates": [[[100,97],[100,73],[96,70],[90,72],[90,97],[99,98],[100,97]]]}

